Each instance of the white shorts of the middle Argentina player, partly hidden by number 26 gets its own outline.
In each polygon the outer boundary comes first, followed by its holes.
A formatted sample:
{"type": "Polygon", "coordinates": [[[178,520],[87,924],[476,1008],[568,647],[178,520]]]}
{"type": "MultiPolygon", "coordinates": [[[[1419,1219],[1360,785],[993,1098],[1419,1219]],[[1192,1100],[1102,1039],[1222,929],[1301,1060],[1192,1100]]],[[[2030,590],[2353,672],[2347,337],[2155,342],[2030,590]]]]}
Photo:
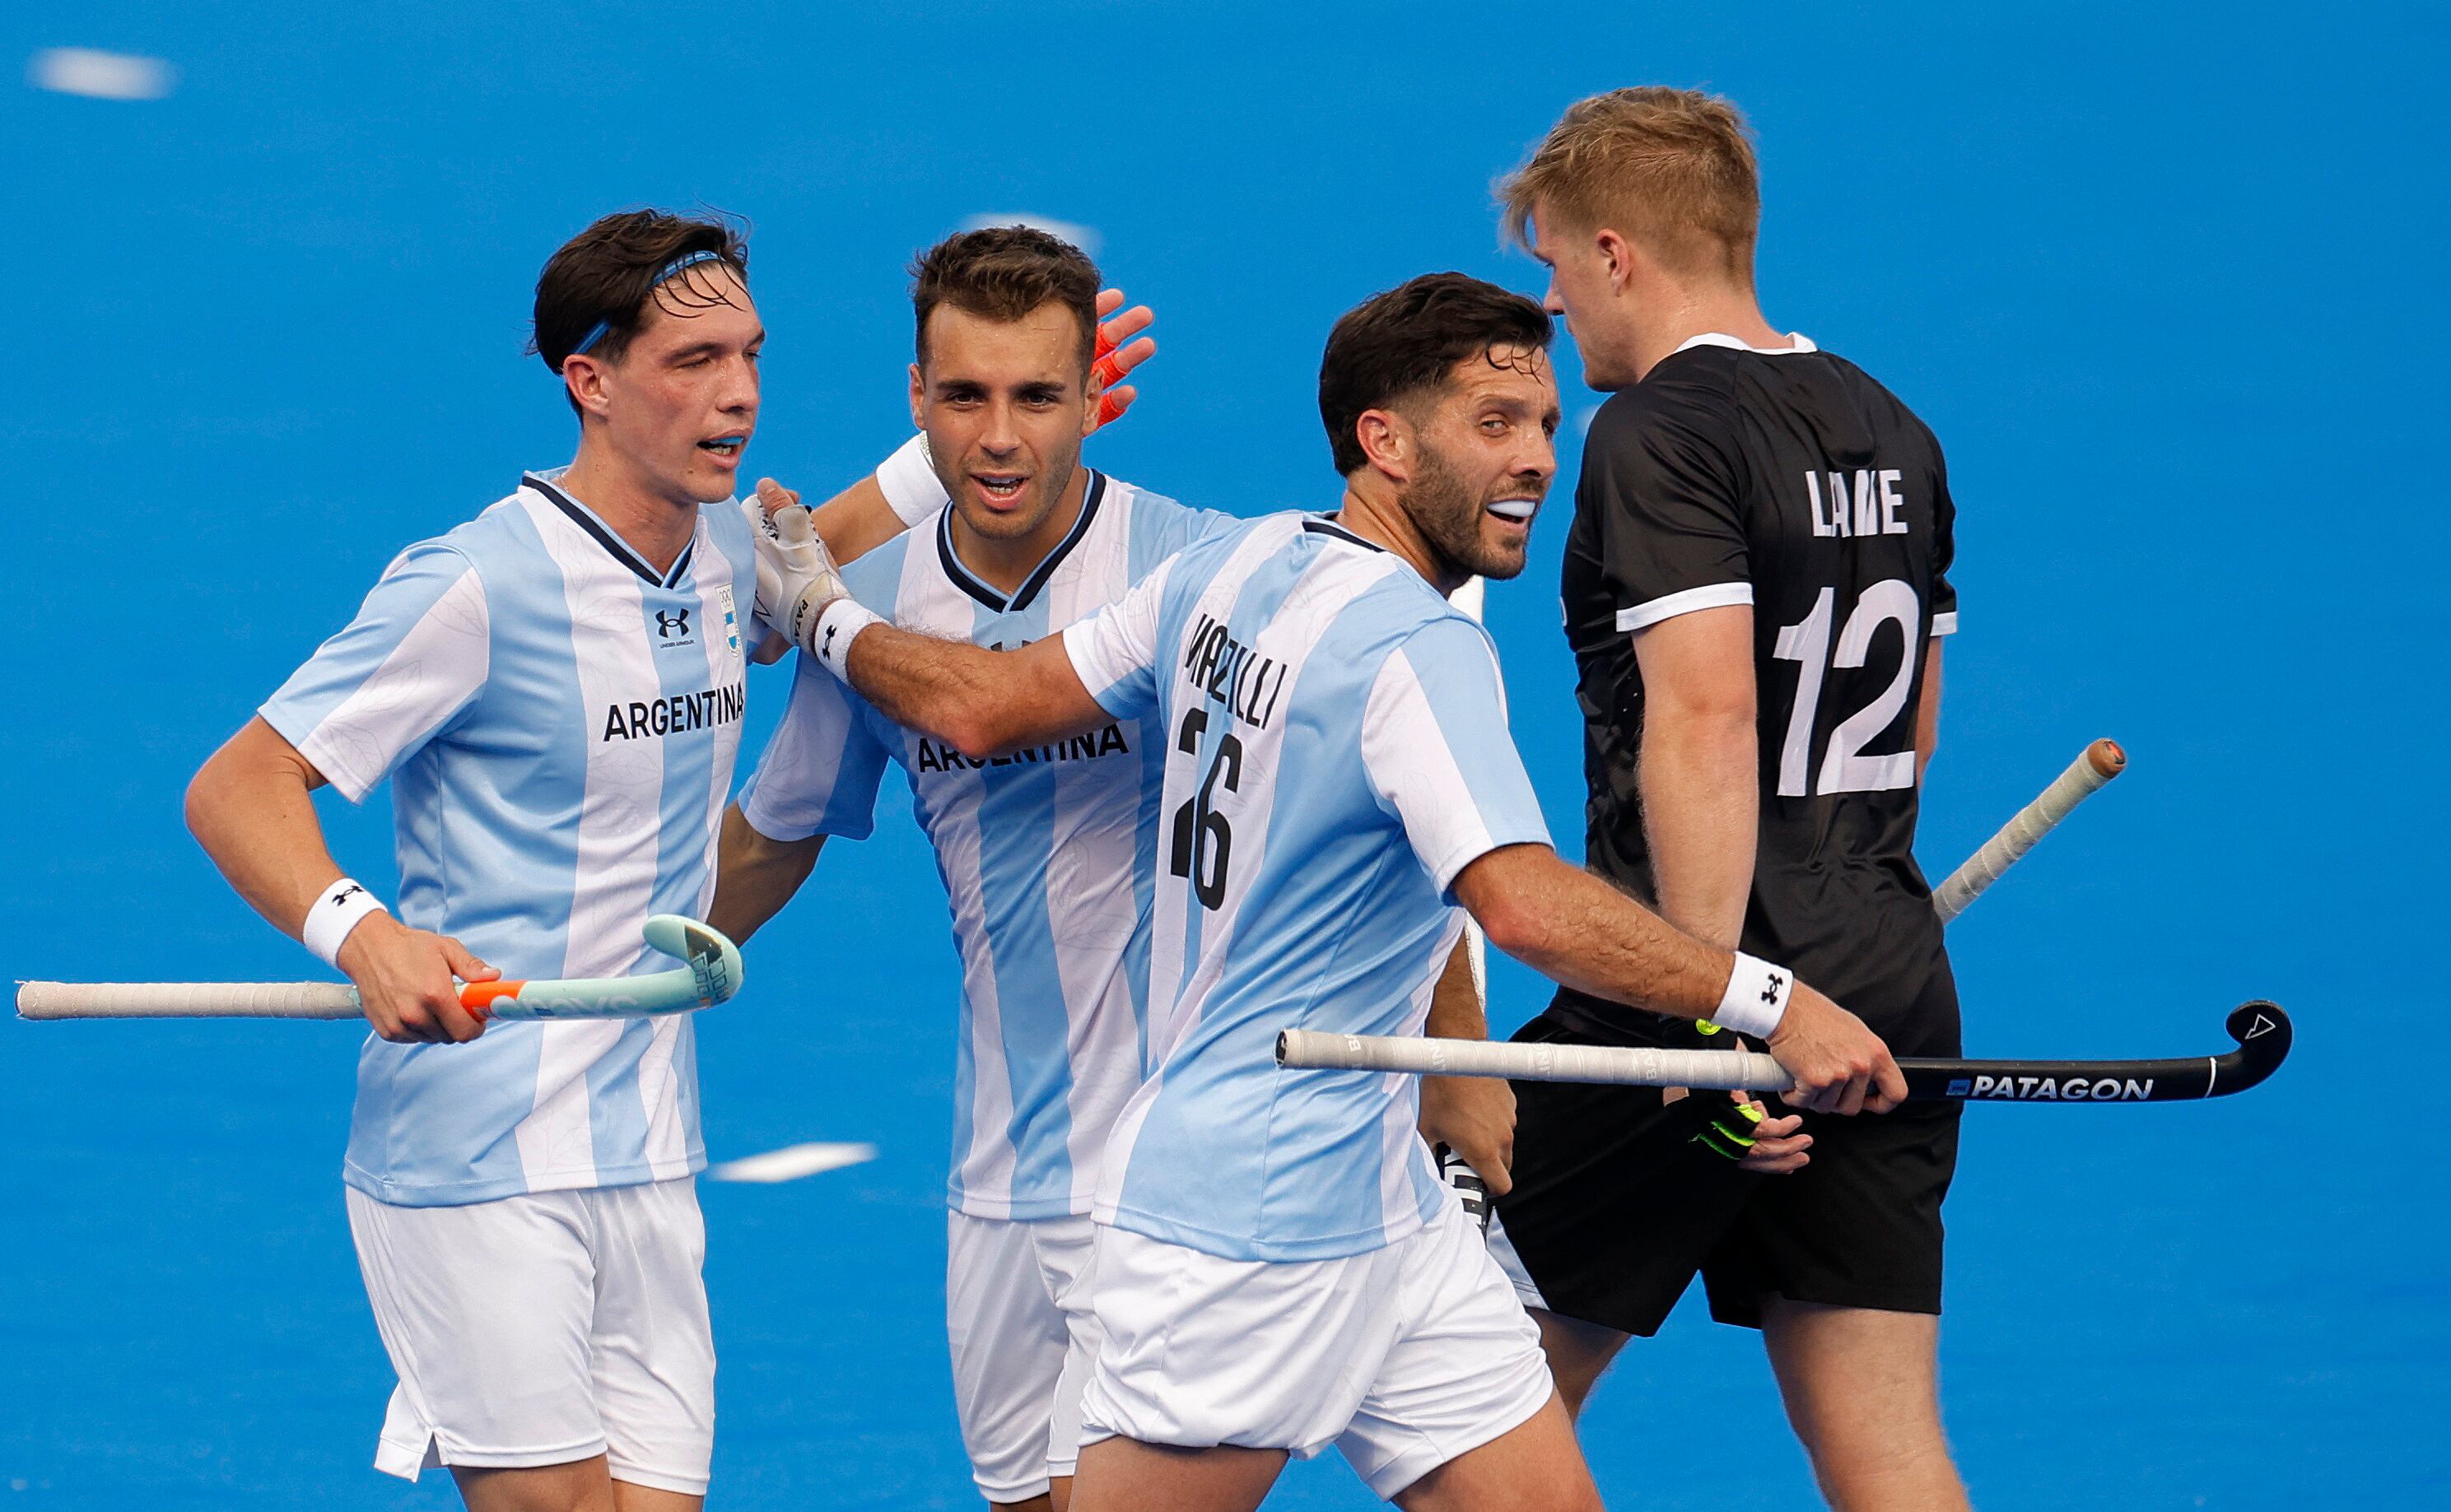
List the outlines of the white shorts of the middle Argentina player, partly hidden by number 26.
{"type": "Polygon", "coordinates": [[[944,1331],[971,1480],[990,1502],[1047,1495],[1081,1456],[1081,1387],[1098,1358],[1083,1218],[946,1213],[944,1331]]]}

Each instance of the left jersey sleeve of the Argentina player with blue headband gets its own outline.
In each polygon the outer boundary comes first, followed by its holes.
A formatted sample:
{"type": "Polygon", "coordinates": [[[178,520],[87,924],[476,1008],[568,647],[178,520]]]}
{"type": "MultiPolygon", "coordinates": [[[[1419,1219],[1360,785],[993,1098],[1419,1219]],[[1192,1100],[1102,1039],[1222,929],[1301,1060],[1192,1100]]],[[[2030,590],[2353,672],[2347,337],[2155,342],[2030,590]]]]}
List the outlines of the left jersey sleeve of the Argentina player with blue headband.
{"type": "Polygon", "coordinates": [[[475,701],[490,657],[475,564],[424,542],[392,559],[358,618],[257,713],[358,804],[475,701]]]}

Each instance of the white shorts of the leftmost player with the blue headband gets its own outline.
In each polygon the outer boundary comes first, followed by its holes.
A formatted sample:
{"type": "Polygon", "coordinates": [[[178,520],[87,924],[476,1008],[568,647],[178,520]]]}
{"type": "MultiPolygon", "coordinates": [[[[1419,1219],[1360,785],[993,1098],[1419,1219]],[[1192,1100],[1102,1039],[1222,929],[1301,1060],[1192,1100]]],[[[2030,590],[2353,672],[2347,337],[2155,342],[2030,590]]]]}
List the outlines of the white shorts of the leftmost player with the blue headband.
{"type": "Polygon", "coordinates": [[[348,1230],[400,1387],[375,1468],[566,1465],[706,1495],[716,1340],[696,1179],[395,1208],[348,1230]]]}

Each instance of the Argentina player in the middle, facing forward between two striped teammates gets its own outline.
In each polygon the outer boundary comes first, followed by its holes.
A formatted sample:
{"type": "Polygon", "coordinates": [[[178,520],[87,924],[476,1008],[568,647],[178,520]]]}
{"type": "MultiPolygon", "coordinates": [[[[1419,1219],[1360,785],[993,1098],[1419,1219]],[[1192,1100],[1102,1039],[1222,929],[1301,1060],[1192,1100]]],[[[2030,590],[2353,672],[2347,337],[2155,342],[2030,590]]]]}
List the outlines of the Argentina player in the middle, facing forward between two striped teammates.
{"type": "MultiPolygon", "coordinates": [[[[946,238],[917,260],[909,397],[926,446],[880,468],[877,485],[897,510],[917,497],[929,512],[843,569],[863,603],[929,635],[1020,647],[1238,524],[1081,466],[1105,414],[1096,292],[1081,250],[1017,225],[946,238]],[[909,456],[924,458],[917,473],[902,473],[909,456]]],[[[1096,1353],[1078,1282],[1098,1152],[1142,1071],[1164,752],[1120,718],[968,757],[801,657],[782,725],[725,816],[716,929],[748,939],[828,836],[865,838],[887,765],[904,769],[936,848],[963,968],[946,1191],[963,1443],[988,1502],[1047,1505],[1074,1470],[1096,1353]]]]}

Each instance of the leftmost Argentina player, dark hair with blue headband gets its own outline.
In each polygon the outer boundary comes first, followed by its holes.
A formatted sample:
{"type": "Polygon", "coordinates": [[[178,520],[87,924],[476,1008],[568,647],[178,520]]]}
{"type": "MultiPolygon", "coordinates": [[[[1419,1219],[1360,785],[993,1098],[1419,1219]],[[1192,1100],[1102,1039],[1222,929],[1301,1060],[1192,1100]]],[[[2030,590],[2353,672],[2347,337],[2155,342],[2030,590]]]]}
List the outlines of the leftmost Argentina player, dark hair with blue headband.
{"type": "Polygon", "coordinates": [[[375,1029],[343,1164],[400,1375],[375,1465],[449,1465],[478,1512],[686,1510],[713,1446],[691,1017],[480,1032],[451,978],[654,970],[645,919],[713,894],[765,328],[738,233],[657,211],[554,252],[534,319],[574,463],[402,551],[196,774],[189,823],[375,1029]],[[309,801],[385,779],[397,919],[309,801]]]}

